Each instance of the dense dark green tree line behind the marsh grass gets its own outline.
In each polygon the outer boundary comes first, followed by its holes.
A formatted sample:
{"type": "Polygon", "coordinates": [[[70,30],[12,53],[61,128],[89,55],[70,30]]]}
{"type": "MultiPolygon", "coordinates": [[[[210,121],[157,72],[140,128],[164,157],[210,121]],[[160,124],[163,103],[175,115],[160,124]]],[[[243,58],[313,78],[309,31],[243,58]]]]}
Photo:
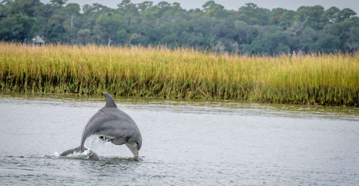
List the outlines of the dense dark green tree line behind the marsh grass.
{"type": "Polygon", "coordinates": [[[102,45],[191,46],[217,52],[281,54],[359,50],[359,18],[349,9],[302,6],[297,11],[248,3],[226,10],[215,1],[185,10],[179,3],[123,0],[112,9],[67,0],[3,0],[0,39],[102,45]]]}

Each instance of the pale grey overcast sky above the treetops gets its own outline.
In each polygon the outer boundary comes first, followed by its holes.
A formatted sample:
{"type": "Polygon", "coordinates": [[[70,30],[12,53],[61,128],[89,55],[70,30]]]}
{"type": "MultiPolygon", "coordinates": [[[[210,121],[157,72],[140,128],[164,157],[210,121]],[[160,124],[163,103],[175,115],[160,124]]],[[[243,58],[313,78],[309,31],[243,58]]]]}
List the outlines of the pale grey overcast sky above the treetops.
{"type": "MultiPolygon", "coordinates": [[[[43,3],[48,3],[50,0],[41,0],[43,3]]],[[[99,3],[111,8],[116,8],[117,4],[122,0],[69,0],[68,3],[77,3],[79,5],[99,3]]],[[[145,0],[131,0],[132,3],[141,3],[145,0]]],[[[202,5],[208,0],[148,0],[157,4],[160,1],[167,1],[169,3],[178,2],[182,8],[195,9],[201,8],[202,5]]],[[[288,10],[297,10],[300,6],[314,6],[321,5],[325,9],[332,6],[336,6],[339,9],[350,8],[356,13],[359,12],[358,0],[215,0],[216,3],[223,5],[228,10],[238,10],[239,7],[246,3],[255,3],[261,8],[273,9],[273,8],[285,8],[288,10]]]]}

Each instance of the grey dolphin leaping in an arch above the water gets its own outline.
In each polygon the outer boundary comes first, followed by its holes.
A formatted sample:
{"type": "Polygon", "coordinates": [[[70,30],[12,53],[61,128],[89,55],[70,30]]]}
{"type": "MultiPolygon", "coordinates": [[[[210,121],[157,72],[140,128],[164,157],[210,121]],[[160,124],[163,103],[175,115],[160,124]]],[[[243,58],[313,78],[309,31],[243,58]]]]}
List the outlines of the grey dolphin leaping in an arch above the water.
{"type": "MultiPolygon", "coordinates": [[[[142,146],[142,137],[135,121],[121,109],[117,108],[115,100],[106,92],[106,105],[99,109],[87,122],[82,132],[81,144],[79,147],[62,152],[60,156],[67,156],[75,152],[84,152],[86,139],[92,135],[101,136],[100,139],[111,141],[115,145],[125,144],[134,157],[138,157],[138,151],[142,146]]],[[[99,160],[98,155],[90,151],[89,157],[99,160]]]]}

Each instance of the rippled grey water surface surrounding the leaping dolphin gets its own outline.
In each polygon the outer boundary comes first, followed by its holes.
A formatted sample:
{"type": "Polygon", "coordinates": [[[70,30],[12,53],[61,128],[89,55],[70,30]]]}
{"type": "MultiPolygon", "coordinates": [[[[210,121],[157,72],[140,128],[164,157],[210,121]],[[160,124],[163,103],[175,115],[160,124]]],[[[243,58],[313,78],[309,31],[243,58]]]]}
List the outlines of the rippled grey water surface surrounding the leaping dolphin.
{"type": "Polygon", "coordinates": [[[359,185],[359,110],[115,98],[140,128],[140,158],[80,143],[102,97],[0,95],[0,185],[359,185]]]}

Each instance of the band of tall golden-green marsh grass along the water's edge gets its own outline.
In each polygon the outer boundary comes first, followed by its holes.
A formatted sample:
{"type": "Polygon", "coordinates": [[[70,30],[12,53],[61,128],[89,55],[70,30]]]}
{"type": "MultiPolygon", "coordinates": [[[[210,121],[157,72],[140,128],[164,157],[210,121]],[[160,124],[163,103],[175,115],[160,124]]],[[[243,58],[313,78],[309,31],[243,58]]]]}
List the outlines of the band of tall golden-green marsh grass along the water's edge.
{"type": "Polygon", "coordinates": [[[358,106],[359,54],[256,57],[0,43],[0,91],[358,106]]]}

